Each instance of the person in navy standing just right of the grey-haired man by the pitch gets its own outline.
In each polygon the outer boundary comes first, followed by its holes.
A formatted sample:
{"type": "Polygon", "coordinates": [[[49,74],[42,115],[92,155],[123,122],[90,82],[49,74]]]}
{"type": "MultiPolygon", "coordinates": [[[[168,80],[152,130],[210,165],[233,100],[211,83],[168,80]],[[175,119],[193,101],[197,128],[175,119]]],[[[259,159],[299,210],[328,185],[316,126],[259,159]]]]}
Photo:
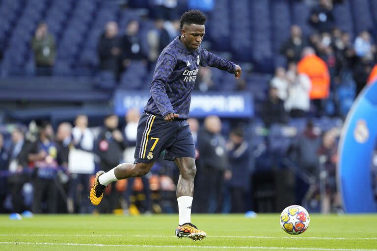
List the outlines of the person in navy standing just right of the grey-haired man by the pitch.
{"type": "Polygon", "coordinates": [[[250,186],[250,148],[243,140],[243,129],[235,128],[229,135],[228,156],[232,172],[228,182],[232,200],[232,213],[245,211],[245,196],[250,186]]]}

